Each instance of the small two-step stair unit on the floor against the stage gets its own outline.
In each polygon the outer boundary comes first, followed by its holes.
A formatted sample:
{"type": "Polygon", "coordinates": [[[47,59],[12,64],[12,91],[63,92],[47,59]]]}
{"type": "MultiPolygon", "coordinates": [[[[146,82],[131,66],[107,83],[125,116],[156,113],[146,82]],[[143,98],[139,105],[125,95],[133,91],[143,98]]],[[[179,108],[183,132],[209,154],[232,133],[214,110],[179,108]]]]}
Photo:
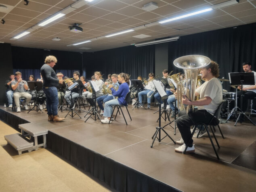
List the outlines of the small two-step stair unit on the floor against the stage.
{"type": "Polygon", "coordinates": [[[24,123],[19,125],[19,128],[21,134],[4,136],[5,140],[18,151],[18,154],[25,150],[28,150],[28,152],[38,150],[39,147],[46,148],[48,129],[34,123],[24,123]],[[38,144],[38,136],[43,136],[43,143],[38,144]]]}

